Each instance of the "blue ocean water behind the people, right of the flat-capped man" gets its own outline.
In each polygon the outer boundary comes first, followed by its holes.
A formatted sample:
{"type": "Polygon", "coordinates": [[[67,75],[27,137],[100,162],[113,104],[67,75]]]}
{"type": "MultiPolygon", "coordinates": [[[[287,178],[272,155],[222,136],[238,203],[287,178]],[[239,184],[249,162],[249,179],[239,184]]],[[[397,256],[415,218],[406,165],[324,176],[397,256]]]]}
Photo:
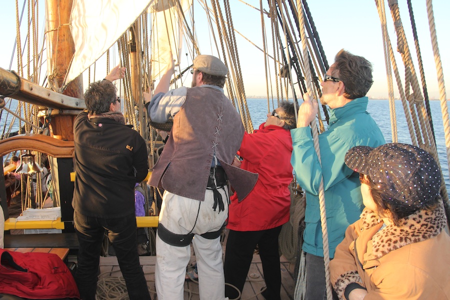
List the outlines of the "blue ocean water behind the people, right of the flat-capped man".
{"type": "MultiPolygon", "coordinates": [[[[267,118],[267,100],[260,98],[247,99],[248,110],[250,111],[251,120],[255,129],[265,122],[267,118]]],[[[450,105],[447,101],[447,105],[450,105]]],[[[448,176],[448,163],[446,157],[445,135],[443,131],[442,113],[440,109],[440,101],[430,101],[431,117],[433,120],[434,135],[437,146],[437,154],[439,156],[440,166],[444,176],[447,191],[450,192],[450,180],[448,176]]],[[[276,106],[275,106],[276,107],[276,106]]],[[[270,103],[270,110],[273,107],[270,103]]],[[[384,135],[386,142],[392,141],[389,101],[388,100],[374,100],[370,99],[367,105],[367,112],[376,121],[381,132],[384,135]]],[[[397,139],[398,142],[411,143],[409,130],[406,123],[406,118],[403,112],[403,106],[400,100],[395,100],[395,114],[397,120],[397,139]]],[[[323,115],[323,113],[322,113],[323,115]]],[[[325,125],[326,126],[326,125],[325,125]]]]}

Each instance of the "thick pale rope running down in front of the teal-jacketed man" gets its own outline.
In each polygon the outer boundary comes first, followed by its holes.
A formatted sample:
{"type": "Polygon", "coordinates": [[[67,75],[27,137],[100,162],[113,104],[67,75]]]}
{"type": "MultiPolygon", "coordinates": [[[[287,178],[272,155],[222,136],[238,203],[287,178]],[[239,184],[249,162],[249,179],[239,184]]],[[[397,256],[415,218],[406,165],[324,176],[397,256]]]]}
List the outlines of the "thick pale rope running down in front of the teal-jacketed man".
{"type": "MultiPolygon", "coordinates": [[[[301,44],[303,48],[303,61],[304,61],[304,68],[305,68],[305,77],[306,77],[306,83],[307,83],[307,90],[308,94],[312,94],[312,83],[311,83],[311,76],[309,71],[309,62],[307,60],[308,52],[307,52],[307,46],[306,46],[306,35],[304,32],[304,16],[303,16],[303,7],[300,0],[297,0],[297,9],[298,9],[298,19],[300,23],[300,37],[301,37],[301,44]]],[[[315,96],[315,94],[313,94],[315,96]]],[[[312,101],[317,101],[316,98],[312,99],[312,101]]],[[[320,148],[318,143],[318,133],[317,133],[317,123],[315,120],[311,122],[312,127],[312,137],[314,142],[314,149],[317,153],[317,159],[320,162],[320,148]]],[[[330,280],[330,274],[329,274],[329,247],[328,247],[328,234],[327,234],[327,226],[326,226],[326,210],[325,210],[325,195],[324,195],[324,187],[323,187],[323,177],[320,178],[320,186],[319,186],[319,205],[320,205],[320,224],[322,228],[322,239],[323,239],[323,260],[324,260],[324,266],[325,266],[325,282],[326,282],[326,297],[328,300],[332,299],[331,294],[331,280],[330,280]]],[[[297,284],[302,284],[297,281],[297,284]]]]}

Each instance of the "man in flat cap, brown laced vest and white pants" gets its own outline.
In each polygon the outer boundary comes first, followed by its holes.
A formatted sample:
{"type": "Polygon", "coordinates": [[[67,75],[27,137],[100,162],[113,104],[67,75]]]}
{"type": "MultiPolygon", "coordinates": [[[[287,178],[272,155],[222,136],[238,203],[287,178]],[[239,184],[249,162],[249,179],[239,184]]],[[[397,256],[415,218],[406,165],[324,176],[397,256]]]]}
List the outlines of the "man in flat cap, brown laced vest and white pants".
{"type": "Polygon", "coordinates": [[[224,299],[220,233],[228,215],[228,181],[239,199],[254,186],[257,174],[231,165],[244,128],[223,93],[228,68],[217,57],[193,60],[191,88],[168,91],[171,59],[149,99],[148,115],[173,127],[149,183],[164,188],[156,237],[155,286],[158,299],[183,299],[190,242],[196,255],[201,299],[224,299]]]}

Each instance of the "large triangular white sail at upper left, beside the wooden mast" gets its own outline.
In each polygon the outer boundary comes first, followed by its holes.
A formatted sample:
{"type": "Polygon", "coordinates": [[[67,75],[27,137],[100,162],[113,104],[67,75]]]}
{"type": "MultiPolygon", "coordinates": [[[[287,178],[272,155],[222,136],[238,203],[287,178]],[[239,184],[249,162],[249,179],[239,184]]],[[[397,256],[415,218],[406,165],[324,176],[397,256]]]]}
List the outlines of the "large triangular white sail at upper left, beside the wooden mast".
{"type": "Polygon", "coordinates": [[[153,1],[74,0],[70,29],[75,53],[65,84],[106,52],[153,1]]]}

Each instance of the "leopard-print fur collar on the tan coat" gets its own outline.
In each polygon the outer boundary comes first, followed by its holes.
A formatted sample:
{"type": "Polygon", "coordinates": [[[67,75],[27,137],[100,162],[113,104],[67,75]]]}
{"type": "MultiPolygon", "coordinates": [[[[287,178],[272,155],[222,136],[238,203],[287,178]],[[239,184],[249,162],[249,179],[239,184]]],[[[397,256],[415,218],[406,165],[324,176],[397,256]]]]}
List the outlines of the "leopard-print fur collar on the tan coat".
{"type": "MultiPolygon", "coordinates": [[[[367,229],[379,224],[378,216],[365,209],[361,214],[362,226],[367,229]]],[[[402,219],[402,224],[386,225],[372,237],[373,255],[379,258],[402,246],[438,235],[445,227],[446,217],[442,202],[433,211],[417,210],[402,219]]]]}

